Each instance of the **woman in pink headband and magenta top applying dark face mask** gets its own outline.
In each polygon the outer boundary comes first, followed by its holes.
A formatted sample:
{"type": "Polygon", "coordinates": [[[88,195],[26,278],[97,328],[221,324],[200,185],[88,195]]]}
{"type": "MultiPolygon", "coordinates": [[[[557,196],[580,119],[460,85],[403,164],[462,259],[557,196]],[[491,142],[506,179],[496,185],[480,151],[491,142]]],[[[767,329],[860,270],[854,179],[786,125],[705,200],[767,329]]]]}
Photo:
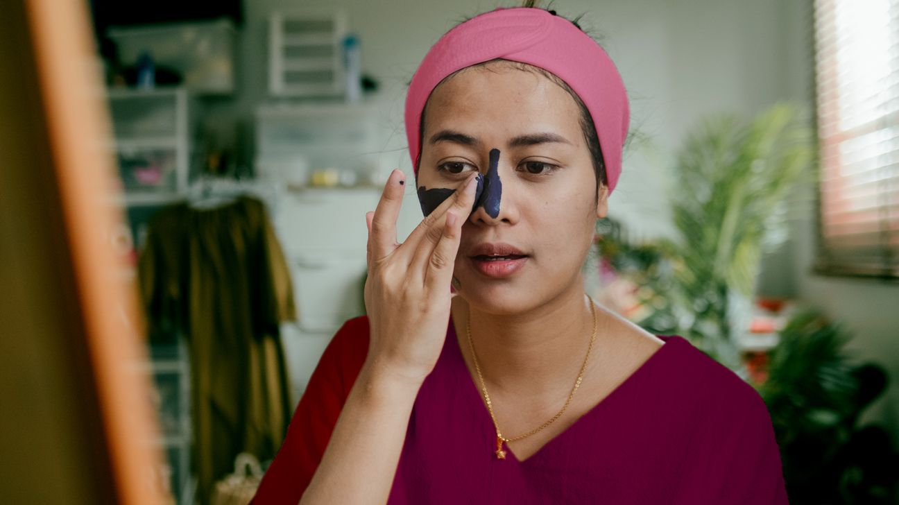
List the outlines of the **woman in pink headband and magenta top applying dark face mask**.
{"type": "Polygon", "coordinates": [[[628,99],[573,23],[497,9],[415,73],[369,227],[367,317],[334,336],[257,503],[786,503],[761,397],[585,296],[628,99]],[[455,295],[450,290],[454,288],[455,295]]]}

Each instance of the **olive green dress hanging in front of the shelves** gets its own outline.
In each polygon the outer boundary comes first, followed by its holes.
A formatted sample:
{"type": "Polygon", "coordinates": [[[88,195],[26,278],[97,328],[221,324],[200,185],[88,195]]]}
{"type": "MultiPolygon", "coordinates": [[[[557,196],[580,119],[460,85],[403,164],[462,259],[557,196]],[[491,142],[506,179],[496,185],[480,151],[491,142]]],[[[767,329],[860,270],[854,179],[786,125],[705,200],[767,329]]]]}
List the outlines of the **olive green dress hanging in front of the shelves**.
{"type": "Polygon", "coordinates": [[[181,203],[150,221],[138,275],[153,341],[186,337],[191,463],[200,503],[249,452],[271,459],[290,418],[279,323],[296,319],[289,268],[263,202],[181,203]]]}

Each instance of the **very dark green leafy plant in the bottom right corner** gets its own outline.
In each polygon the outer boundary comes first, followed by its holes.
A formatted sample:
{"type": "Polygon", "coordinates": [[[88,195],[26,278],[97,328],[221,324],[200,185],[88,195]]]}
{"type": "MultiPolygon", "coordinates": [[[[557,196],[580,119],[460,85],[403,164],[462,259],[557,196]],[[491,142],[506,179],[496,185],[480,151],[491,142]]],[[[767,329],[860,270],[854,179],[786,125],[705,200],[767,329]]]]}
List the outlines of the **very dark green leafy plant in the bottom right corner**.
{"type": "Polygon", "coordinates": [[[888,504],[899,455],[883,427],[859,416],[886,389],[883,368],[853,365],[850,334],[816,311],[795,315],[758,385],[777,435],[790,502],[888,504]]]}

